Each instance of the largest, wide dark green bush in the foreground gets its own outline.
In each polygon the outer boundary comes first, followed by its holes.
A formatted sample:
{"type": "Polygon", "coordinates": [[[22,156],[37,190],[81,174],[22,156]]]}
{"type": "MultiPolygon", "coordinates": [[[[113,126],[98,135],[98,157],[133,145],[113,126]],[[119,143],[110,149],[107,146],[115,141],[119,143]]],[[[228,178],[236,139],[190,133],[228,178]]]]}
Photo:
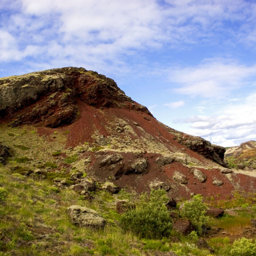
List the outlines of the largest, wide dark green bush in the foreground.
{"type": "Polygon", "coordinates": [[[142,194],[136,209],[131,209],[122,216],[122,228],[149,239],[169,236],[172,224],[165,206],[167,202],[168,197],[163,190],[152,190],[150,196],[142,194]]]}

